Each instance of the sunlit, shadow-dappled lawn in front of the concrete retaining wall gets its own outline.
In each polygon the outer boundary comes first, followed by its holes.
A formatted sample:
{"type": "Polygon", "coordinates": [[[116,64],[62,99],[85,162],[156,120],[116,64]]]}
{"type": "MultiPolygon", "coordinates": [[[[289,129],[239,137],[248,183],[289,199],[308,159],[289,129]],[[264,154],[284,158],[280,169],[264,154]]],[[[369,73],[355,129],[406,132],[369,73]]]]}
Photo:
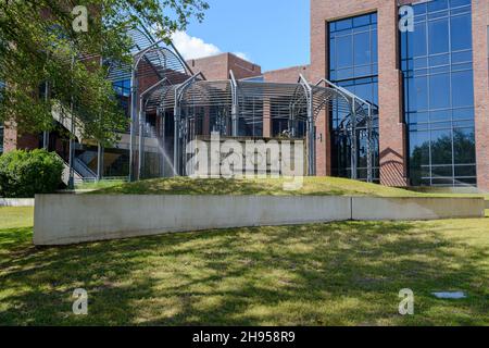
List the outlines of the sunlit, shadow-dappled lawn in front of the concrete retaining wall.
{"type": "Polygon", "coordinates": [[[489,325],[489,219],[343,222],[32,245],[0,208],[2,325],[489,325]],[[72,313],[87,289],[89,314],[72,313]],[[415,314],[398,314],[398,293],[415,314]],[[463,300],[430,293],[463,290],[463,300]]]}

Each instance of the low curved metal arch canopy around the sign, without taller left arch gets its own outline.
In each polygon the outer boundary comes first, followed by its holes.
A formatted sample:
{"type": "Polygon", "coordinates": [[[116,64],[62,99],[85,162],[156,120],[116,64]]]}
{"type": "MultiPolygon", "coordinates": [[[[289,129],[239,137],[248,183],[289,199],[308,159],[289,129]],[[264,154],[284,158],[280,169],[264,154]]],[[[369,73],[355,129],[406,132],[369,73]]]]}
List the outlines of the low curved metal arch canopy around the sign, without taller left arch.
{"type": "MultiPolygon", "coordinates": [[[[315,175],[316,120],[322,111],[341,110],[344,114],[341,129],[349,133],[352,139],[352,178],[356,178],[358,172],[356,132],[366,127],[367,181],[373,182],[372,127],[375,107],[327,79],[312,85],[301,75],[294,84],[264,83],[237,80],[234,73],[229,72],[228,79],[211,82],[197,73],[180,84],[160,84],[150,95],[151,102],[146,104],[149,107],[145,113],[156,109],[156,114],[161,116],[173,111],[172,152],[176,175],[186,175],[183,161],[186,156],[185,145],[196,136],[204,135],[199,128],[211,119],[214,124],[208,124],[208,127],[215,126],[213,130],[226,137],[264,138],[265,123],[268,128],[273,121],[285,125],[286,129],[278,136],[306,141],[308,174],[315,175]]],[[[143,134],[142,128],[139,133],[143,134]]],[[[141,147],[139,149],[142,150],[141,147]]],[[[138,177],[141,170],[139,167],[138,177]]]]}

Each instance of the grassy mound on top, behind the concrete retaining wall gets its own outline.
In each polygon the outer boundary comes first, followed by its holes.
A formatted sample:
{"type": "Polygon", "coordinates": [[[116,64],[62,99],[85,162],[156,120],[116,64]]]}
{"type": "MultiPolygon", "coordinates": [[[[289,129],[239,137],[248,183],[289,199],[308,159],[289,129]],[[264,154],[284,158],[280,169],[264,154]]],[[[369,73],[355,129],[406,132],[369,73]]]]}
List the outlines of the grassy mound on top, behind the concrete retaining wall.
{"type": "MultiPolygon", "coordinates": [[[[484,197],[474,194],[425,194],[386,187],[339,177],[304,177],[298,190],[286,190],[291,179],[155,178],[121,183],[89,192],[90,195],[310,195],[377,197],[484,197]]],[[[489,198],[489,196],[488,196],[489,198]]]]}

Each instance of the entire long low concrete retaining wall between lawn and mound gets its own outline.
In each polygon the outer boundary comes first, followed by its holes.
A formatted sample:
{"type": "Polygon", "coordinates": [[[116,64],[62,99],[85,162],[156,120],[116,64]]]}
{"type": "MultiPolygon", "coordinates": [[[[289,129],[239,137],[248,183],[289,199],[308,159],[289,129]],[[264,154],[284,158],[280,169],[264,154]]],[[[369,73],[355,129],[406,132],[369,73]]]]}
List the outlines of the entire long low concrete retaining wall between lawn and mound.
{"type": "Polygon", "coordinates": [[[34,243],[65,245],[168,232],[484,216],[482,199],[271,196],[36,196],[34,243]]]}

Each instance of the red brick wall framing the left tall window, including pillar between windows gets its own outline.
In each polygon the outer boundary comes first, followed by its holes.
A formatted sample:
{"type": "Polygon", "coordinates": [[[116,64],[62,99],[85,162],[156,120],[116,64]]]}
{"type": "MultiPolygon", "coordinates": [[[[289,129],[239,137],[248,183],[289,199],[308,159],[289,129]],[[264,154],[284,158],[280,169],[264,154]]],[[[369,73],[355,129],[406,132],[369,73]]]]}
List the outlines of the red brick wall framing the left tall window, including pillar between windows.
{"type": "MultiPolygon", "coordinates": [[[[378,14],[380,182],[389,186],[406,185],[405,126],[402,124],[402,82],[398,54],[398,2],[396,0],[311,0],[310,79],[328,76],[327,22],[369,12],[378,14]]],[[[318,132],[329,134],[325,117],[318,132]]],[[[319,141],[318,137],[318,141],[319,141]]],[[[317,173],[329,174],[328,144],[319,144],[317,173]]]]}

